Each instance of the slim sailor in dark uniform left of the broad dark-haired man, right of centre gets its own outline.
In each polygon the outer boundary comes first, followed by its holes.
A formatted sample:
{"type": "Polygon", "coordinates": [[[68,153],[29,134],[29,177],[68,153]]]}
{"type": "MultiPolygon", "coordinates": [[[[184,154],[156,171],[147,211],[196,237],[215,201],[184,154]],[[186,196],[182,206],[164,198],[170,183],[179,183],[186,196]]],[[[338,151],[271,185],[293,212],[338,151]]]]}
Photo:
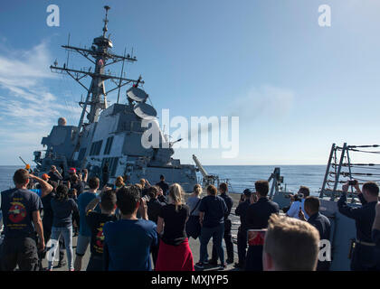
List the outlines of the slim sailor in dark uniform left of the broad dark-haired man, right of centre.
{"type": "Polygon", "coordinates": [[[245,255],[247,254],[247,224],[245,222],[245,213],[251,204],[252,191],[245,189],[242,192],[242,198],[239,200],[239,205],[235,210],[235,215],[240,217],[240,226],[237,233],[237,247],[239,262],[235,263],[235,267],[243,268],[245,264],[245,255]]]}

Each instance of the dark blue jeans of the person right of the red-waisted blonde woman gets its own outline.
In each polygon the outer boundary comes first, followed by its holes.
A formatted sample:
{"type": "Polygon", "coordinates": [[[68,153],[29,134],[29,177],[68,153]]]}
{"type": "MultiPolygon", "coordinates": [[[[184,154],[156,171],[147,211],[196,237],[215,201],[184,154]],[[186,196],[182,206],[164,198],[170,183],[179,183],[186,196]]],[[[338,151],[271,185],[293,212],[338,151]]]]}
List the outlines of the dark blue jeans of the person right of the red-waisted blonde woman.
{"type": "Polygon", "coordinates": [[[218,226],[213,227],[213,228],[202,227],[201,236],[200,236],[201,248],[200,248],[199,262],[204,263],[204,261],[207,260],[208,258],[207,244],[210,241],[210,238],[213,238],[213,246],[216,249],[216,253],[219,256],[221,263],[224,264],[224,251],[222,247],[223,235],[224,235],[224,223],[219,224],[218,226]]]}

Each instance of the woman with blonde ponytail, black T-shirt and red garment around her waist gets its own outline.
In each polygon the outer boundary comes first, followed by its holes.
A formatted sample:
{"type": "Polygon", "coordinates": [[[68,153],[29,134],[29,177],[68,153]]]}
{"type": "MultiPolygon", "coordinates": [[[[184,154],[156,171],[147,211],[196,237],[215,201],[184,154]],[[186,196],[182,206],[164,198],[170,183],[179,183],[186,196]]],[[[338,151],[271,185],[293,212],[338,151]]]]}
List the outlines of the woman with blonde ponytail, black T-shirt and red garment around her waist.
{"type": "Polygon", "coordinates": [[[189,208],[183,204],[183,196],[181,185],[172,184],[168,204],[161,208],[158,215],[157,233],[161,235],[161,240],[156,271],[194,271],[193,254],[185,233],[189,208]]]}

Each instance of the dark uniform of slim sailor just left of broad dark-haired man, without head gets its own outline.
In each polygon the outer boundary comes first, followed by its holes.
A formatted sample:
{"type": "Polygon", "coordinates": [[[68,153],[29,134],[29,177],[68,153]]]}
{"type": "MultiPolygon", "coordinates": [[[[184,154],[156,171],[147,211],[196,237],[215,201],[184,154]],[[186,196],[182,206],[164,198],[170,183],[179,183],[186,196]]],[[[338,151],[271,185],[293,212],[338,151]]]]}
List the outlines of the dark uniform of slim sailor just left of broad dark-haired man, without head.
{"type": "Polygon", "coordinates": [[[237,206],[235,210],[235,215],[240,217],[240,226],[237,233],[237,247],[239,264],[241,266],[245,264],[245,255],[247,254],[247,224],[245,215],[250,204],[250,200],[244,200],[237,206]]]}

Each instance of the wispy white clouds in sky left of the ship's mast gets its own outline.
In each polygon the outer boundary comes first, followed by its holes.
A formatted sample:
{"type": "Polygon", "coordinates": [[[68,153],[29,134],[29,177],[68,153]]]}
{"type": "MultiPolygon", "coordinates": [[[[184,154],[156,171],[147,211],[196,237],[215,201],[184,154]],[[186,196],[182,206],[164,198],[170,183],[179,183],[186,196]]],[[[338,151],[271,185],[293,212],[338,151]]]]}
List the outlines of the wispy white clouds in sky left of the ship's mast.
{"type": "Polygon", "coordinates": [[[17,152],[42,149],[41,139],[50,133],[58,117],[78,117],[80,107],[60,103],[44,84],[55,79],[50,71],[52,63],[46,42],[29,51],[10,51],[0,47],[0,145],[1,163],[14,163],[17,152]]]}

